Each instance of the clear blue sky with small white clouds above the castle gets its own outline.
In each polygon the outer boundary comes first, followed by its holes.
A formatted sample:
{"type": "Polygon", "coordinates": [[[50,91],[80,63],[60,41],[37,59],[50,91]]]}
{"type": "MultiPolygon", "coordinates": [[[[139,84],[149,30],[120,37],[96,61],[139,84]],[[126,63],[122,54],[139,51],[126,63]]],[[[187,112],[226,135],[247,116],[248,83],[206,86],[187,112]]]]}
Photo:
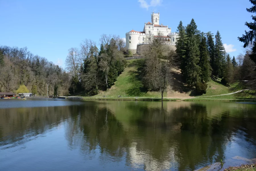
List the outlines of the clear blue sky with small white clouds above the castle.
{"type": "Polygon", "coordinates": [[[249,0],[0,0],[0,45],[28,47],[33,54],[65,67],[68,49],[85,38],[98,42],[100,35],[142,31],[151,12],[160,11],[160,23],[176,31],[179,21],[192,18],[198,29],[216,33],[231,56],[243,53],[238,36],[251,21],[249,0]]]}

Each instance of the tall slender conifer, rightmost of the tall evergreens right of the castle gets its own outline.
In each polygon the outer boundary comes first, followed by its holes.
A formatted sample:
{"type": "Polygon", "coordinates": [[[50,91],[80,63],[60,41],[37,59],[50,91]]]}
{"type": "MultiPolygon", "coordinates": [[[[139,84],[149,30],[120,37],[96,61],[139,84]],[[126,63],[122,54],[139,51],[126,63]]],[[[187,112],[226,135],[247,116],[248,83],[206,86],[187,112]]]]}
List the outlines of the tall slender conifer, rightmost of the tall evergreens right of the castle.
{"type": "Polygon", "coordinates": [[[223,76],[224,64],[225,64],[225,48],[222,44],[222,40],[220,37],[219,30],[215,35],[215,55],[214,55],[214,66],[213,72],[215,74],[216,79],[219,76],[223,76]]]}

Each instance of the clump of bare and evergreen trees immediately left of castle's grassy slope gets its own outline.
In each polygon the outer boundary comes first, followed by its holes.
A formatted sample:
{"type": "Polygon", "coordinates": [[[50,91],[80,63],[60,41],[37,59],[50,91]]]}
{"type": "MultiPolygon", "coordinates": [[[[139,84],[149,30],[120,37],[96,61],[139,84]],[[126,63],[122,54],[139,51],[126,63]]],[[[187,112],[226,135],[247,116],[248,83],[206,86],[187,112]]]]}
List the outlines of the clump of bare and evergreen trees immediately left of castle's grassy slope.
{"type": "Polygon", "coordinates": [[[100,50],[97,43],[85,39],[79,48],[70,48],[65,60],[66,70],[71,74],[71,94],[85,91],[98,94],[110,88],[123,72],[126,60],[125,42],[120,36],[102,34],[100,50]]]}

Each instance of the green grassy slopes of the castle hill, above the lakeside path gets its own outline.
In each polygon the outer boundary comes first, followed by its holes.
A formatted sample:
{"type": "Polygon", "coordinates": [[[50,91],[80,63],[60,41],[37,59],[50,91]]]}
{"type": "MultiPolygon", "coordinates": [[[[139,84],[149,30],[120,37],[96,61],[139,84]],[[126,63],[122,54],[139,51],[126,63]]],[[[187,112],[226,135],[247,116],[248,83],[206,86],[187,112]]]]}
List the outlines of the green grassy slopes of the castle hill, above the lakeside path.
{"type": "MultiPolygon", "coordinates": [[[[151,97],[160,98],[161,93],[156,91],[147,91],[139,78],[139,73],[137,71],[139,67],[139,62],[141,59],[129,60],[127,61],[127,67],[124,72],[117,78],[115,85],[113,85],[107,91],[100,91],[99,94],[93,97],[151,97]]],[[[236,95],[224,95],[216,97],[206,97],[212,95],[221,95],[231,93],[230,88],[221,84],[219,80],[210,80],[208,82],[207,93],[202,96],[196,96],[194,89],[186,86],[181,81],[180,71],[177,69],[172,69],[172,74],[174,81],[172,86],[164,93],[164,97],[169,98],[186,98],[186,97],[200,97],[200,98],[210,98],[210,99],[236,99],[236,95]]],[[[84,94],[79,94],[78,96],[86,96],[84,94]]]]}

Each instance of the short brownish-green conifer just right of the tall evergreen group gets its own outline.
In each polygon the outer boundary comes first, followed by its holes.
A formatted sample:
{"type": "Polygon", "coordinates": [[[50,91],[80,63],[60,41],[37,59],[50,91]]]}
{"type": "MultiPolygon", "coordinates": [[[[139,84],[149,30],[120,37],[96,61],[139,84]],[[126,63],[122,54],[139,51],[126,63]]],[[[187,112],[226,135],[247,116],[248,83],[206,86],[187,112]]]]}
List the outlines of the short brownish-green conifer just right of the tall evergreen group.
{"type": "Polygon", "coordinates": [[[226,64],[224,67],[223,79],[221,80],[224,84],[232,84],[234,81],[234,66],[231,62],[230,56],[228,54],[226,64]],[[222,81],[223,80],[223,81],[222,81]]]}

